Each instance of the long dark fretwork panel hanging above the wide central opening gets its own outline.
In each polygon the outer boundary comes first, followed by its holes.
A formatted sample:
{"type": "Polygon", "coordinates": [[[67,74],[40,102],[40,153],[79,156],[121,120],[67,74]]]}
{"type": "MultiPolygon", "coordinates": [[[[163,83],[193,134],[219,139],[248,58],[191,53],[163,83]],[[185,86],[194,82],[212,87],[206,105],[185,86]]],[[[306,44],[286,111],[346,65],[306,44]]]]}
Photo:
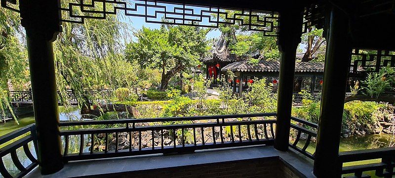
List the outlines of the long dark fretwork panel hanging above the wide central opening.
{"type": "Polygon", "coordinates": [[[238,24],[248,30],[262,31],[276,36],[278,14],[275,12],[202,7],[187,4],[161,3],[149,0],[79,0],[63,4],[62,21],[84,23],[85,19],[105,19],[107,15],[124,13],[125,16],[143,17],[147,23],[191,25],[217,28],[220,24],[238,24]]]}

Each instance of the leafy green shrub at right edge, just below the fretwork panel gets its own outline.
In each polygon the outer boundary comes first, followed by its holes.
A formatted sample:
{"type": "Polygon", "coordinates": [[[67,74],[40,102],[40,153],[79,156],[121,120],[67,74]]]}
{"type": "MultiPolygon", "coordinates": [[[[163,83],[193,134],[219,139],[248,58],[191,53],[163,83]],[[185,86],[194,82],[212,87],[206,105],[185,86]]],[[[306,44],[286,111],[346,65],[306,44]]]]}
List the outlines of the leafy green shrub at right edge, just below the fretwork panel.
{"type": "Polygon", "coordinates": [[[363,93],[370,97],[378,98],[386,90],[392,90],[394,83],[394,71],[389,68],[382,68],[378,73],[369,73],[362,84],[363,93]]]}

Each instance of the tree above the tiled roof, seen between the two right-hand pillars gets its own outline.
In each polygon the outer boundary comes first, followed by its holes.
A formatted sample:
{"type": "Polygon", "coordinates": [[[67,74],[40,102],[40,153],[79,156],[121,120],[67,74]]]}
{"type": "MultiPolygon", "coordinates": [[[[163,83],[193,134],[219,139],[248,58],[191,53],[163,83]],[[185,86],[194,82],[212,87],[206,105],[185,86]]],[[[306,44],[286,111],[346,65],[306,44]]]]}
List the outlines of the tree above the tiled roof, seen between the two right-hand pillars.
{"type": "Polygon", "coordinates": [[[325,38],[322,37],[323,29],[316,29],[309,27],[308,32],[302,36],[302,44],[306,45],[306,52],[303,55],[302,62],[309,62],[313,60],[313,55],[316,53],[323,54],[318,56],[318,61],[323,61],[325,58],[324,46],[326,45],[325,38]]]}

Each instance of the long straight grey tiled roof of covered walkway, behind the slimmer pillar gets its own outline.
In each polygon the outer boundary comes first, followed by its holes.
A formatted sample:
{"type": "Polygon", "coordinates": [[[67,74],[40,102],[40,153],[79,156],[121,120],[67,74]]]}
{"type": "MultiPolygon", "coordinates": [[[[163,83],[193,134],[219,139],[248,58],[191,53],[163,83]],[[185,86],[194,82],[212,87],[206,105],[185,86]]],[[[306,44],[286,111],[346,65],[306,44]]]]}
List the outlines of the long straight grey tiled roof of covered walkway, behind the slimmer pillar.
{"type": "MultiPolygon", "coordinates": [[[[222,71],[231,70],[233,72],[279,72],[279,61],[260,60],[258,64],[251,64],[248,61],[234,62],[222,68],[222,71]]],[[[296,62],[295,72],[323,72],[323,62],[296,62]]]]}

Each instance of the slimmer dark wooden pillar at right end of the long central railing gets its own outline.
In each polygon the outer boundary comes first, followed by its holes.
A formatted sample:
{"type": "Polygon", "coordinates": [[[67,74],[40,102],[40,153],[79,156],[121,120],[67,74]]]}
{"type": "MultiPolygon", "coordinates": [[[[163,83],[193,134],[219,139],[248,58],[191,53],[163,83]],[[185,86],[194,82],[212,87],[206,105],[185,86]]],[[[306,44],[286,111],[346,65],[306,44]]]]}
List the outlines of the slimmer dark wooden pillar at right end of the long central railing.
{"type": "Polygon", "coordinates": [[[281,52],[281,57],[278,77],[275,148],[281,151],[288,150],[289,144],[293,94],[292,86],[295,75],[296,49],[301,42],[302,22],[302,10],[287,10],[280,13],[280,29],[277,43],[281,52]]]}

